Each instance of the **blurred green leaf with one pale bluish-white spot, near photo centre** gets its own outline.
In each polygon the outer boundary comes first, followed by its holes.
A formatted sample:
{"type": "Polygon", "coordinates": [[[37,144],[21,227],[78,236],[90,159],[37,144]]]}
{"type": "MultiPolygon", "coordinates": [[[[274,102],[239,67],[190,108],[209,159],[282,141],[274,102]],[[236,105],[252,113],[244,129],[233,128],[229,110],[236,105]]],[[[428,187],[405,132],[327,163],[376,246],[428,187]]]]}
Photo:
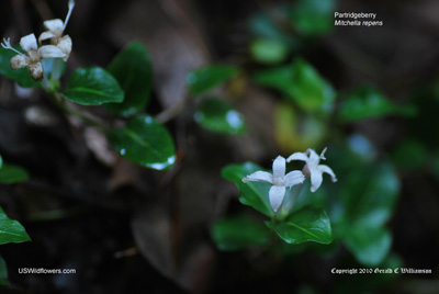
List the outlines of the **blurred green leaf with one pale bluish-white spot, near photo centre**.
{"type": "Polygon", "coordinates": [[[246,131],[243,115],[216,98],[203,100],[194,120],[202,127],[215,133],[235,135],[246,131]]]}

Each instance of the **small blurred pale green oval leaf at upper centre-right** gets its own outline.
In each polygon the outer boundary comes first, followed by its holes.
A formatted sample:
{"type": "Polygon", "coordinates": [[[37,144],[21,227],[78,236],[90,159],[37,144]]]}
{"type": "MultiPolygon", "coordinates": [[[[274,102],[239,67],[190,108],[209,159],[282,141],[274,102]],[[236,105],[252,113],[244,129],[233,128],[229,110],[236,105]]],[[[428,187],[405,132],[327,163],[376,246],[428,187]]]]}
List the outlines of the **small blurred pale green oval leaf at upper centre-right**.
{"type": "Polygon", "coordinates": [[[251,43],[250,53],[255,60],[272,65],[284,61],[288,57],[289,48],[279,39],[258,38],[251,43]]]}

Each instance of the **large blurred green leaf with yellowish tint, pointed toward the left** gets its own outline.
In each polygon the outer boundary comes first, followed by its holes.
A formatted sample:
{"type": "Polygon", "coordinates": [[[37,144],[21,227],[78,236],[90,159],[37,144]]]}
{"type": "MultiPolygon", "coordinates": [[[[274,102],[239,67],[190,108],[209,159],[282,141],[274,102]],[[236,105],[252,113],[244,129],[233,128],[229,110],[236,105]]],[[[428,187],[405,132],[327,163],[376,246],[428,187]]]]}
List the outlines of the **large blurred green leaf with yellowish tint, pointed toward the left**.
{"type": "Polygon", "coordinates": [[[254,76],[261,86],[277,89],[306,112],[329,113],[336,93],[313,66],[302,58],[290,66],[266,69],[254,76]]]}

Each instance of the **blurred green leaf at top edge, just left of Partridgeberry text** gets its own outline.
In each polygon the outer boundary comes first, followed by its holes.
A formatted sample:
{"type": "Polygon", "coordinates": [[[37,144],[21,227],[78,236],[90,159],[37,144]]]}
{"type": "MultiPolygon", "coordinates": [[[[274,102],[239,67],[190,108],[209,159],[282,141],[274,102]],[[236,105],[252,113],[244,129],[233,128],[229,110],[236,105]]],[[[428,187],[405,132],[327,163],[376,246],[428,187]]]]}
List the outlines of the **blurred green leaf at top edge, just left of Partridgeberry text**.
{"type": "Polygon", "coordinates": [[[335,0],[296,1],[289,16],[296,31],[305,36],[330,32],[334,29],[335,0]]]}

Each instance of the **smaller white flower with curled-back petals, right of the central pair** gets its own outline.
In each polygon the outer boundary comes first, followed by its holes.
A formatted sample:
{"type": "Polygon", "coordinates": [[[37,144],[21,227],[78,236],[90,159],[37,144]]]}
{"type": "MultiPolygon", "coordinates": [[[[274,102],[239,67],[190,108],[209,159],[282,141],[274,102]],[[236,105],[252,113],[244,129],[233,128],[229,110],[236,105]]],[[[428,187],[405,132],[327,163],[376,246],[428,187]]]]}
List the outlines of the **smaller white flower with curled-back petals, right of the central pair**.
{"type": "Polygon", "coordinates": [[[286,159],[288,162],[292,160],[302,160],[306,162],[305,167],[303,168],[303,172],[306,177],[311,177],[311,192],[317,191],[317,189],[320,186],[324,172],[330,176],[333,182],[337,182],[336,174],[328,166],[318,165],[320,159],[326,159],[326,149],[327,148],[322,151],[320,156],[318,156],[313,149],[307,149],[306,152],[292,154],[286,159]]]}

